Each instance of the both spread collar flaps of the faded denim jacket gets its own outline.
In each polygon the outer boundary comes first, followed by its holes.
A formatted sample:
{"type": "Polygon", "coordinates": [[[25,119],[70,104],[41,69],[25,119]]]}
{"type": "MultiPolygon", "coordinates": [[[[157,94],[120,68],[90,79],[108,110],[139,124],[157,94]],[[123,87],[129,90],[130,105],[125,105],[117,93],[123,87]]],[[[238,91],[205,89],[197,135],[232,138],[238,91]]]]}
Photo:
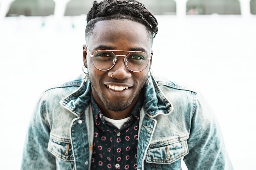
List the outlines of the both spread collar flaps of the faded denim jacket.
{"type": "MultiPolygon", "coordinates": [[[[151,76],[149,84],[144,85],[144,91],[144,109],[150,118],[159,114],[168,115],[173,111],[171,102],[162,93],[153,76],[151,76]]],[[[77,117],[80,117],[90,104],[90,94],[90,80],[83,81],[81,86],[74,93],[61,100],[60,104],[77,117]]]]}

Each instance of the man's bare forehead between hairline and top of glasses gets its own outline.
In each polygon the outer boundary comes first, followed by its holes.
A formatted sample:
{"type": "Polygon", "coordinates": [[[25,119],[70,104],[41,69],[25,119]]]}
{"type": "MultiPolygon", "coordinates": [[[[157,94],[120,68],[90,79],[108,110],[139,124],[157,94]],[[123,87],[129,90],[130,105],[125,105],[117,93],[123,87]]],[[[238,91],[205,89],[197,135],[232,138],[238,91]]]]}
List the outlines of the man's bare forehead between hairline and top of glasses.
{"type": "Polygon", "coordinates": [[[90,49],[97,46],[108,46],[118,50],[144,48],[150,50],[152,40],[144,24],[131,20],[102,20],[95,24],[92,33],[87,37],[90,49]]]}

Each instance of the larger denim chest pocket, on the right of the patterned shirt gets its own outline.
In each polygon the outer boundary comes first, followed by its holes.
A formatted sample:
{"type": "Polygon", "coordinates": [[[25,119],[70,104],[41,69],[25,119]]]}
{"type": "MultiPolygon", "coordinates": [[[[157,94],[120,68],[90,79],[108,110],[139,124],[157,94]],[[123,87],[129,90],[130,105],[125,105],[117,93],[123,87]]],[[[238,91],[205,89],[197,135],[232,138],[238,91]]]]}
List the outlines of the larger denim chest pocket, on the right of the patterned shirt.
{"type": "Polygon", "coordinates": [[[146,153],[146,162],[171,164],[189,153],[186,140],[172,141],[150,145],[146,153]]]}

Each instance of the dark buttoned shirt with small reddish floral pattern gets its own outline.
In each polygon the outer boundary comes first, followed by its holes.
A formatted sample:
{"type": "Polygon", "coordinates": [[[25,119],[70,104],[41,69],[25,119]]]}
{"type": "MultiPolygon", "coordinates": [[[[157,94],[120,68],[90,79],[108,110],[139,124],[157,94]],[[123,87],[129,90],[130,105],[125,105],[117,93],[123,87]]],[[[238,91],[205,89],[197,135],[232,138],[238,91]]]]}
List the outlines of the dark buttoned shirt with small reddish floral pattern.
{"type": "Polygon", "coordinates": [[[104,120],[101,110],[91,95],[94,115],[92,170],[137,169],[139,111],[143,106],[141,94],[132,115],[120,129],[104,120]]]}

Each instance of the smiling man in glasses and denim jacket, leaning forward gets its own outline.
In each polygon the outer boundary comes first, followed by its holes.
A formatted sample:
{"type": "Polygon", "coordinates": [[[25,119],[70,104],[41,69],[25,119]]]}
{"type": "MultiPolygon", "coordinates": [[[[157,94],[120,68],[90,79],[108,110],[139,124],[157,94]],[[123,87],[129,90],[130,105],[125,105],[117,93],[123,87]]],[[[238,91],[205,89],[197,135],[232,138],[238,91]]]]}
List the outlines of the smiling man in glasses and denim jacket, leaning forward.
{"type": "Polygon", "coordinates": [[[135,0],[93,3],[85,78],[43,93],[22,170],[180,170],[183,157],[189,170],[232,169],[198,93],[151,75],[157,31],[135,0]]]}

